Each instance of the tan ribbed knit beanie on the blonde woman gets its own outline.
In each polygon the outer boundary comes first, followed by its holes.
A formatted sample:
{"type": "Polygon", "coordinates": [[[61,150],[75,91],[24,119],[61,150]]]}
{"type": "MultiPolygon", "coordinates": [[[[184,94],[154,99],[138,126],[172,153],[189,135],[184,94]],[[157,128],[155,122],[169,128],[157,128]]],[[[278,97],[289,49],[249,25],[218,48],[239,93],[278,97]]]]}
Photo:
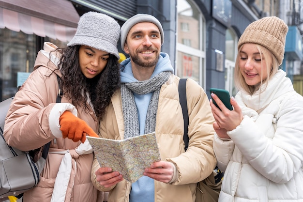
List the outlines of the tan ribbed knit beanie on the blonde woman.
{"type": "Polygon", "coordinates": [[[252,22],[239,39],[238,50],[245,43],[259,44],[269,49],[279,65],[284,58],[285,38],[288,26],[278,17],[263,17],[252,22]]]}

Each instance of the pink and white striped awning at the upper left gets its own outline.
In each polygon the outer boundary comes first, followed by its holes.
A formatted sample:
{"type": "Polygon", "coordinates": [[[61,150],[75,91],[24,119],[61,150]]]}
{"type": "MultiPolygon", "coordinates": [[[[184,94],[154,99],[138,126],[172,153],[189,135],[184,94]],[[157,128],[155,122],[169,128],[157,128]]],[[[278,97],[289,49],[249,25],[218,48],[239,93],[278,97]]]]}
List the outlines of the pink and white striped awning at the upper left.
{"type": "Polygon", "coordinates": [[[79,15],[69,0],[0,0],[0,28],[63,42],[76,33],[79,15]]]}

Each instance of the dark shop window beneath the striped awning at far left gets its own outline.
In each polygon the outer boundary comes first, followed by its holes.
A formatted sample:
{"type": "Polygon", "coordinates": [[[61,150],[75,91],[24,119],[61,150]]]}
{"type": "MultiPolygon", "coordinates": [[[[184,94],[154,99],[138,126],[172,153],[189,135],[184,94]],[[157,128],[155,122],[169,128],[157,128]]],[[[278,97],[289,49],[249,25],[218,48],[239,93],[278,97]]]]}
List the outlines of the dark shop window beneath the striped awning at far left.
{"type": "Polygon", "coordinates": [[[22,85],[33,71],[37,50],[42,48],[36,47],[37,38],[42,42],[52,42],[58,47],[65,47],[67,44],[22,31],[0,29],[0,101],[15,95],[16,88],[22,85]]]}

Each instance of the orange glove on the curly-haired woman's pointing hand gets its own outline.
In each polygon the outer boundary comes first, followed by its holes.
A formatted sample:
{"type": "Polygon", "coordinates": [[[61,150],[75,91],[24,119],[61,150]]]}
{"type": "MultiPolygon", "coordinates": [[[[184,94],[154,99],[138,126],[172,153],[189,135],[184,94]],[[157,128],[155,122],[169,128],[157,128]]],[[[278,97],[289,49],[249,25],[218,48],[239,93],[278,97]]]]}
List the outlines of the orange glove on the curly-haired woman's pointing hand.
{"type": "Polygon", "coordinates": [[[84,143],[86,134],[99,138],[95,131],[93,131],[85,121],[79,119],[70,111],[64,111],[62,113],[60,116],[60,125],[63,138],[71,139],[74,142],[81,140],[81,142],[84,143]]]}

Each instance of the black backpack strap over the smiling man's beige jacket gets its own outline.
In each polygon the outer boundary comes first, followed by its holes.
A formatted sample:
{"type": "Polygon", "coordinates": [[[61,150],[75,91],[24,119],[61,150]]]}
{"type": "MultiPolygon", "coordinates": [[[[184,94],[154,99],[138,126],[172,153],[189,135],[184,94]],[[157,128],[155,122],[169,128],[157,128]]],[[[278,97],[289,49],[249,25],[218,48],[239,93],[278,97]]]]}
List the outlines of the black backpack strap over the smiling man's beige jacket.
{"type": "Polygon", "coordinates": [[[186,98],[186,81],[187,78],[181,78],[179,80],[179,100],[180,100],[180,105],[182,108],[182,113],[183,113],[183,119],[184,119],[184,134],[183,134],[183,141],[185,143],[185,151],[188,148],[188,124],[189,124],[189,118],[188,118],[188,110],[187,110],[187,98],[186,98]]]}

